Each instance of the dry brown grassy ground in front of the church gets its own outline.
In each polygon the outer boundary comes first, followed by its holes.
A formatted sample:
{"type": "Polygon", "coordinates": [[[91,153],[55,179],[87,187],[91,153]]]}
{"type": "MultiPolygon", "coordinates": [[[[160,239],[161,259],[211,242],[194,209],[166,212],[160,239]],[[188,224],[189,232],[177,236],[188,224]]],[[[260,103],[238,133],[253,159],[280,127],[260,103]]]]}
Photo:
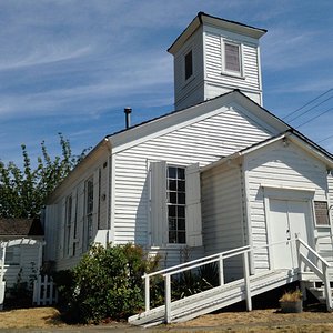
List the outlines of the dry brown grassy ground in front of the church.
{"type": "Polygon", "coordinates": [[[16,332],[18,329],[29,332],[333,332],[333,313],[317,309],[295,314],[284,314],[276,309],[221,312],[185,323],[143,330],[115,322],[99,326],[67,325],[57,309],[33,307],[0,312],[0,330],[6,329],[16,332]]]}

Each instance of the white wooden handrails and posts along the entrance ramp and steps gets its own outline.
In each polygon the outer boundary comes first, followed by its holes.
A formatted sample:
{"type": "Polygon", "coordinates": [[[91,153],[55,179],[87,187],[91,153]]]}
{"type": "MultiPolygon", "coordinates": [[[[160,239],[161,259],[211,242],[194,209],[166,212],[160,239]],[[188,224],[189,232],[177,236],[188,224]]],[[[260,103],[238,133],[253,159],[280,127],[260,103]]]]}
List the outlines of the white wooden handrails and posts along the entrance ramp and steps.
{"type": "MultiPolygon", "coordinates": [[[[209,256],[204,256],[201,259],[196,259],[190,262],[185,262],[172,268],[168,268],[164,270],[160,270],[153,273],[144,274],[142,279],[144,279],[144,306],[145,311],[150,310],[150,279],[157,275],[162,275],[164,278],[164,305],[165,305],[165,322],[170,323],[171,321],[171,276],[174,274],[179,274],[192,269],[196,269],[199,266],[203,266],[210,263],[218,263],[219,266],[219,282],[220,285],[224,285],[224,271],[223,271],[223,264],[225,259],[234,258],[234,256],[242,256],[242,263],[243,263],[243,279],[244,279],[244,286],[245,286],[245,300],[246,300],[246,307],[248,311],[252,310],[252,300],[251,300],[251,285],[250,285],[250,265],[249,265],[249,256],[253,254],[253,251],[259,249],[268,249],[269,252],[272,246],[285,243],[286,241],[275,242],[271,244],[264,244],[261,246],[242,246],[229,251],[224,251],[221,253],[212,254],[209,256]]],[[[310,248],[303,240],[300,238],[290,239],[287,242],[295,243],[295,248],[297,250],[297,262],[299,262],[299,273],[302,271],[302,263],[310,266],[312,271],[324,282],[325,284],[325,295],[326,295],[326,302],[327,302],[327,309],[332,309],[332,297],[331,297],[331,291],[330,291],[330,281],[329,281],[329,274],[327,269],[330,268],[330,264],[319,254],[316,253],[312,248],[310,248]],[[301,245],[305,246],[310,253],[316,258],[317,262],[322,263],[322,269],[317,266],[317,264],[313,263],[309,260],[306,255],[304,255],[301,252],[301,245]]],[[[291,251],[292,251],[292,246],[291,251]]],[[[295,268],[290,268],[295,269],[295,268]]]]}

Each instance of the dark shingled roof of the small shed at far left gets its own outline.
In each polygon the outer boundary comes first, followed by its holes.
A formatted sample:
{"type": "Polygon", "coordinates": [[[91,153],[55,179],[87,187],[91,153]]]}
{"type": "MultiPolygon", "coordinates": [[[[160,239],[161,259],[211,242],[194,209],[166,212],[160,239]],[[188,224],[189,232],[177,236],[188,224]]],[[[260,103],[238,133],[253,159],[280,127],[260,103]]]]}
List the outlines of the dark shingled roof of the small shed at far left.
{"type": "Polygon", "coordinates": [[[40,220],[0,219],[0,236],[42,236],[40,220]]]}

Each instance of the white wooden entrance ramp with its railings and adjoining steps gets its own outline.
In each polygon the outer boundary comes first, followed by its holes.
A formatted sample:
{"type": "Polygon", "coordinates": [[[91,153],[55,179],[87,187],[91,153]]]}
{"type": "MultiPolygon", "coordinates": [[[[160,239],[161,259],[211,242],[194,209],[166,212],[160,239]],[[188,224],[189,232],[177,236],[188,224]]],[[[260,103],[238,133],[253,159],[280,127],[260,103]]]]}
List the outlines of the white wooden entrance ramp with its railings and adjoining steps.
{"type": "MultiPolygon", "coordinates": [[[[325,302],[327,311],[332,311],[332,292],[330,287],[330,270],[333,268],[317,252],[303,240],[290,240],[295,243],[297,266],[291,269],[268,270],[258,274],[250,274],[250,255],[259,248],[242,246],[214,255],[198,259],[165,270],[144,274],[145,310],[129,317],[129,323],[144,327],[162,323],[176,323],[194,319],[228,305],[246,301],[248,311],[252,310],[252,297],[287,283],[300,281],[302,291],[309,289],[320,301],[325,302]],[[224,263],[226,259],[241,256],[243,262],[243,278],[224,283],[224,263]],[[218,263],[220,285],[191,296],[171,301],[171,276],[195,270],[200,266],[218,263]],[[164,278],[164,305],[150,309],[150,280],[157,275],[164,278]]],[[[268,248],[282,242],[261,246],[268,248]]],[[[332,279],[331,279],[332,280],[332,279]]]]}

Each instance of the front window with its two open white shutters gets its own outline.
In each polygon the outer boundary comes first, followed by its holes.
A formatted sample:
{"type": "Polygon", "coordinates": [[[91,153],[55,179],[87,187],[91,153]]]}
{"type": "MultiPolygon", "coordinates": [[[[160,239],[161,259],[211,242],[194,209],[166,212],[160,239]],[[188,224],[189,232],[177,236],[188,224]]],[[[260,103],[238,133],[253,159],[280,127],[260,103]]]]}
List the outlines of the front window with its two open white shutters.
{"type": "Polygon", "coordinates": [[[202,245],[199,164],[150,164],[152,245],[202,245]]]}

